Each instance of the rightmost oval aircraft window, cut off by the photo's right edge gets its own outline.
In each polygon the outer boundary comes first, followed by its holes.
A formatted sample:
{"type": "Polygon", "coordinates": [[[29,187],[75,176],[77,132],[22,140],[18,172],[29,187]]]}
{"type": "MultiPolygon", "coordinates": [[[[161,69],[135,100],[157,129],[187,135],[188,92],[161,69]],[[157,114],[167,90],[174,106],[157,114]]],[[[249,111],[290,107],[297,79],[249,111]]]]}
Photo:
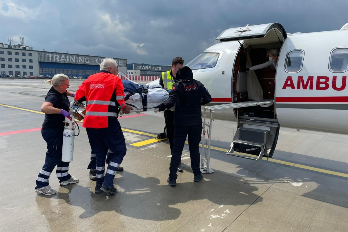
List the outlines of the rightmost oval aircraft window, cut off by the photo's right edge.
{"type": "Polygon", "coordinates": [[[348,70],[348,48],[332,50],[329,68],[331,72],[346,72],[348,70]]]}

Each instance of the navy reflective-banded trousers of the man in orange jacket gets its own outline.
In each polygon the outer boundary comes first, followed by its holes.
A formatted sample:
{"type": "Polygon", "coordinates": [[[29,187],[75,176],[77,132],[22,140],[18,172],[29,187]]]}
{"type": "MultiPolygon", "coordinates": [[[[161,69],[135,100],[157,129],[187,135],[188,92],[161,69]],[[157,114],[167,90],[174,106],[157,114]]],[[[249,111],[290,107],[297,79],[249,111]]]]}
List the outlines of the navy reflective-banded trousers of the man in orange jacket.
{"type": "Polygon", "coordinates": [[[86,128],[92,154],[96,158],[97,184],[113,186],[116,171],[126,155],[126,141],[118,120],[110,122],[107,128],[86,128]],[[105,173],[106,155],[108,168],[105,173]],[[104,174],[105,173],[105,174],[104,174]]]}

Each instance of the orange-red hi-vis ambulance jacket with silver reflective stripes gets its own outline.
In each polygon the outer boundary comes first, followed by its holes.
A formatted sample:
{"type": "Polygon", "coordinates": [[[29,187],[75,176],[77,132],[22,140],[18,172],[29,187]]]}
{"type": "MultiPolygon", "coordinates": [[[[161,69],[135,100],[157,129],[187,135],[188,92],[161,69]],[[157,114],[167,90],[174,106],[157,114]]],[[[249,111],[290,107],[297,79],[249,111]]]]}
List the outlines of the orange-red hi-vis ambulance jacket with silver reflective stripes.
{"type": "Polygon", "coordinates": [[[118,108],[126,106],[122,81],[108,71],[90,75],[75,94],[75,102],[86,101],[83,127],[106,128],[109,120],[117,120],[118,108]]]}

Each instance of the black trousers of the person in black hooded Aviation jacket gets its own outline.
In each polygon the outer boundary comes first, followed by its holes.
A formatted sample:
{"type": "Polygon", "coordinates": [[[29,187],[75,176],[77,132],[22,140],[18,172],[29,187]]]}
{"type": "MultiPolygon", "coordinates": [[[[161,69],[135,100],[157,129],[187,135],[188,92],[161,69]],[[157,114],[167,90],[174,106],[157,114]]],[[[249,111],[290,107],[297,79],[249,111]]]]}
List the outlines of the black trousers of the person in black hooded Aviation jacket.
{"type": "Polygon", "coordinates": [[[203,126],[202,124],[188,127],[174,127],[174,147],[171,159],[171,164],[169,165],[169,178],[177,178],[177,167],[179,162],[181,162],[181,154],[184,149],[186,137],[189,141],[189,150],[191,158],[191,168],[193,175],[199,175],[199,143],[201,139],[203,126]]]}

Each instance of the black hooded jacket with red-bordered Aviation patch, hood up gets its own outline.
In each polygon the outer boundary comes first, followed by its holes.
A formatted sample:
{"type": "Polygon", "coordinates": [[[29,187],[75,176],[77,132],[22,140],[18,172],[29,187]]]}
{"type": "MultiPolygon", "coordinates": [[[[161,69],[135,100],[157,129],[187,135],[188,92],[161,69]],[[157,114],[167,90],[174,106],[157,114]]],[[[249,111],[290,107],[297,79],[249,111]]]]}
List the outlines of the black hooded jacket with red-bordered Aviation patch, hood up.
{"type": "Polygon", "coordinates": [[[195,126],[202,123],[201,105],[212,101],[212,97],[202,83],[193,79],[188,66],[181,67],[175,77],[172,93],[167,102],[160,105],[160,111],[175,105],[174,125],[195,126]]]}

